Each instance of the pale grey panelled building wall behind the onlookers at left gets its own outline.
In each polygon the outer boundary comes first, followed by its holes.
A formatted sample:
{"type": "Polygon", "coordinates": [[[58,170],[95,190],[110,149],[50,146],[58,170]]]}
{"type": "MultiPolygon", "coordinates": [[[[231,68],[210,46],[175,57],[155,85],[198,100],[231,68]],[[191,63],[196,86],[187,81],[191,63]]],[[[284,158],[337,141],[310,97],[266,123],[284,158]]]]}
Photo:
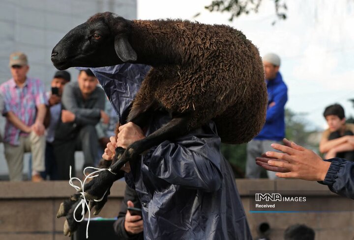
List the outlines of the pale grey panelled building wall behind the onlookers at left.
{"type": "MultiPolygon", "coordinates": [[[[22,51],[29,58],[28,76],[43,80],[49,90],[57,71],[50,60],[53,47],[70,29],[104,11],[135,19],[137,0],[0,0],[0,84],[11,78],[10,53],[22,51]]],[[[69,72],[76,80],[78,71],[71,68],[69,72]]],[[[4,119],[0,117],[1,134],[3,127],[4,119]]],[[[24,171],[28,160],[25,163],[24,171]]],[[[7,165],[1,144],[0,175],[4,174],[7,165]]]]}

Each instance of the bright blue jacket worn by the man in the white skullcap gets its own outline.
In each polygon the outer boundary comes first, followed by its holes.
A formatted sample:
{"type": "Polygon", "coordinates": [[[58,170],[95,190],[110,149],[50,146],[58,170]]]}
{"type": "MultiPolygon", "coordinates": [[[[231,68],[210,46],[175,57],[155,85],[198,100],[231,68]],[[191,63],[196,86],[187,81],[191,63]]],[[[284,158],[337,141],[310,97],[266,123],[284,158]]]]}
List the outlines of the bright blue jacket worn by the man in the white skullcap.
{"type": "Polygon", "coordinates": [[[257,140],[281,141],[285,137],[285,104],[288,101],[288,88],[278,72],[273,80],[266,80],[268,107],[266,123],[261,132],[254,138],[257,140]],[[275,106],[269,107],[269,104],[275,106]]]}

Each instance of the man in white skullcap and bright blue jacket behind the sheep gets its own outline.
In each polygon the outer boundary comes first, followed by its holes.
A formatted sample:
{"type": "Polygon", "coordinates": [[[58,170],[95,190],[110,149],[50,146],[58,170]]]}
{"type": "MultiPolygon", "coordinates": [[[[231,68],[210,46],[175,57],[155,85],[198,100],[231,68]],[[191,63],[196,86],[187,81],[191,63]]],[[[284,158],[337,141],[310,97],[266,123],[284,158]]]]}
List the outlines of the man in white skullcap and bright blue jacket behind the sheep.
{"type": "MultiPolygon", "coordinates": [[[[261,133],[247,144],[246,177],[259,178],[262,168],[255,159],[262,153],[273,150],[270,144],[281,143],[285,137],[285,110],[288,101],[288,88],[279,72],[280,58],[274,53],[268,53],[263,57],[266,86],[268,92],[268,107],[266,124],[261,133]]],[[[275,179],[273,172],[267,171],[269,179],[275,179]]]]}

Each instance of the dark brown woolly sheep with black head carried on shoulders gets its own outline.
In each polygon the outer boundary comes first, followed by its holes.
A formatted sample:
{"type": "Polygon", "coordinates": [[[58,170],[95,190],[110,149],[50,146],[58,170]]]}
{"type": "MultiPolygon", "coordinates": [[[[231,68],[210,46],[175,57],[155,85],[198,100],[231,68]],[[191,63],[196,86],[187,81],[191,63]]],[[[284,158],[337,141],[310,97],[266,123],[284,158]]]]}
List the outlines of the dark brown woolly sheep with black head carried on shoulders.
{"type": "MultiPolygon", "coordinates": [[[[114,13],[97,13],[59,41],[51,60],[59,70],[124,62],[152,66],[127,121],[144,127],[148,115],[160,107],[173,118],[126,150],[117,148],[117,162],[110,167],[114,173],[145,150],[210,119],[221,141],[233,144],[249,141],[265,123],[262,59],[251,41],[229,26],[185,20],[129,21],[114,13]]],[[[111,172],[101,172],[85,185],[87,199],[100,199],[113,181],[111,172]]]]}

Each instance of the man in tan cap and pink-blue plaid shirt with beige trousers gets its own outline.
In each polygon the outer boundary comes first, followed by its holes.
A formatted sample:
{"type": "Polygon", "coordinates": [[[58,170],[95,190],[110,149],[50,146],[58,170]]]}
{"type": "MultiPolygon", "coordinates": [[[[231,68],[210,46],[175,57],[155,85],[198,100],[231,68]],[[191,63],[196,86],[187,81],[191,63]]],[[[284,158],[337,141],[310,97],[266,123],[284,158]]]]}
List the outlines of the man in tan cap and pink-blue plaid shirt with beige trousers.
{"type": "Polygon", "coordinates": [[[28,78],[29,65],[24,53],[10,55],[12,78],[0,85],[4,98],[3,115],[5,158],[10,181],[22,181],[23,157],[32,153],[32,181],[39,182],[44,170],[44,117],[47,98],[41,80],[28,78]]]}

